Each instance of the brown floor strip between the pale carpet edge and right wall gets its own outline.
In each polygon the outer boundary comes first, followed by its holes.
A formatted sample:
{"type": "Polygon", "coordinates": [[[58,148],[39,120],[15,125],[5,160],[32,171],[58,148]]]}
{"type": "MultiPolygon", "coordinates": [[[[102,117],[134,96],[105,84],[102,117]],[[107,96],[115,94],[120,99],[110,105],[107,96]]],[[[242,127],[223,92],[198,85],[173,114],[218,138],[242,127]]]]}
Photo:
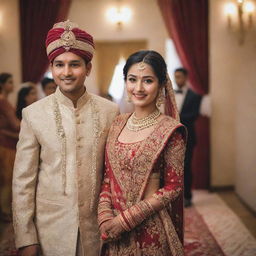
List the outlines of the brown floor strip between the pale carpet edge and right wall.
{"type": "Polygon", "coordinates": [[[256,238],[256,213],[252,212],[242,203],[234,191],[223,191],[217,193],[225,203],[242,220],[247,229],[256,238]]]}

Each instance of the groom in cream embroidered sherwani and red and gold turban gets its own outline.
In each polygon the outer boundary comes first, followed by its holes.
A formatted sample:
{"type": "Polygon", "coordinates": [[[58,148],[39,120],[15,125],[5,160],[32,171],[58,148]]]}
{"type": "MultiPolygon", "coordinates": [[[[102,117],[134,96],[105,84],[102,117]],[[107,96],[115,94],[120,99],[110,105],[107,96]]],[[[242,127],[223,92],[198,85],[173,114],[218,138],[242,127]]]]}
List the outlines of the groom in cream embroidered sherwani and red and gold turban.
{"type": "Polygon", "coordinates": [[[86,92],[94,43],[69,21],[48,32],[56,92],[23,110],[13,177],[20,255],[96,256],[97,204],[114,103],[86,92]]]}

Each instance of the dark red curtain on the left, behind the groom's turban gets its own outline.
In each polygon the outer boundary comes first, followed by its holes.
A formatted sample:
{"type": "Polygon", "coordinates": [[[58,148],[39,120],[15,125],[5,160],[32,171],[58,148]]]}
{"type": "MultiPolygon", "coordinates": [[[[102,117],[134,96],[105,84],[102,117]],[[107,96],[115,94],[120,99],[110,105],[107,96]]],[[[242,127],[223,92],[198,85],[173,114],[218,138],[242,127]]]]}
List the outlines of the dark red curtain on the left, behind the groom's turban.
{"type": "Polygon", "coordinates": [[[22,81],[37,83],[48,66],[47,32],[66,19],[71,0],[20,0],[19,4],[22,81]]]}

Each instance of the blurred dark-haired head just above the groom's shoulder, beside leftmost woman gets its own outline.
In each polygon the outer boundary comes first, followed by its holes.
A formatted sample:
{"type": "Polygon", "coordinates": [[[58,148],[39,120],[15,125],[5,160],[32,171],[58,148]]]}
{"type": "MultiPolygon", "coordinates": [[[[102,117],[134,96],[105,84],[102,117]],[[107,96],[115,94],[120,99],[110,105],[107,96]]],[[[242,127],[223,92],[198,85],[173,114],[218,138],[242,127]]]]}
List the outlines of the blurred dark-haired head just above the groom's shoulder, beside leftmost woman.
{"type": "Polygon", "coordinates": [[[22,109],[27,107],[28,105],[36,102],[37,91],[34,86],[26,86],[19,90],[18,99],[17,99],[17,107],[16,107],[16,116],[19,120],[22,119],[22,109]]]}

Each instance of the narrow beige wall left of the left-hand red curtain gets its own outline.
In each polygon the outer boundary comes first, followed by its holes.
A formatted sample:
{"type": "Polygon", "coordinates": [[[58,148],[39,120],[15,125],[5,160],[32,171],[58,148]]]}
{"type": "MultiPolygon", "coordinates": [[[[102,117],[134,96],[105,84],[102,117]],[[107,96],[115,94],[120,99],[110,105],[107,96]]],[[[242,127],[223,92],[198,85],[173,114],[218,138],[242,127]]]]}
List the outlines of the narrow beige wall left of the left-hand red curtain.
{"type": "Polygon", "coordinates": [[[17,0],[0,1],[0,73],[13,74],[15,91],[10,95],[13,104],[21,83],[18,2],[17,0]]]}

